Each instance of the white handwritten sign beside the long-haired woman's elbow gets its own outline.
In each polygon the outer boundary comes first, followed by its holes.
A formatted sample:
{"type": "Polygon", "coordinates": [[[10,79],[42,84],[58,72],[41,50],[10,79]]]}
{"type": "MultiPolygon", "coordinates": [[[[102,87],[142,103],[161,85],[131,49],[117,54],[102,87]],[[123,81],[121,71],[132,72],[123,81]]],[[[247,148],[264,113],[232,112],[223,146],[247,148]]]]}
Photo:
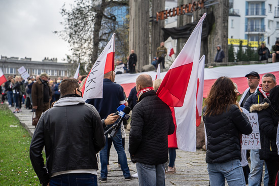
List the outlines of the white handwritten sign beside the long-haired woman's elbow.
{"type": "Polygon", "coordinates": [[[249,135],[242,134],[242,150],[261,149],[259,120],[257,113],[246,114],[253,132],[249,135]]]}

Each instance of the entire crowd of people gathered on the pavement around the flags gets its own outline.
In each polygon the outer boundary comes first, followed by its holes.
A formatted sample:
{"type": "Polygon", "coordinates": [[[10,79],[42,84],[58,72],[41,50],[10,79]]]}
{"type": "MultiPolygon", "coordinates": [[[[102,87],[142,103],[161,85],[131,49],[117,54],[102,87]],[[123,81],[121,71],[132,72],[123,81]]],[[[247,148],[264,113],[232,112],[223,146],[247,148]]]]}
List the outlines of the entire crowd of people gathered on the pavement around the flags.
{"type": "MultiPolygon", "coordinates": [[[[117,64],[127,70],[121,61],[117,64]]],[[[126,99],[121,85],[115,83],[116,73],[104,74],[102,98],[87,100],[83,100],[81,91],[86,76],[50,79],[44,72],[26,81],[9,76],[2,85],[2,101],[7,97],[9,106],[15,106],[14,113],[19,113],[25,103],[40,119],[30,144],[30,160],[43,185],[69,185],[74,180],[82,185],[107,182],[112,144],[125,181],[137,177],[139,185],[165,185],[165,174],[176,173],[177,126],[170,107],[156,95],[162,80],[153,82],[150,75],[138,76],[126,99]],[[104,135],[120,121],[114,114],[120,105],[132,109],[128,150],[136,164],[136,175],[130,174],[124,150],[125,123],[115,134],[104,135]],[[101,165],[98,178],[97,153],[101,165]]],[[[260,77],[251,71],[245,77],[248,88],[239,102],[237,85],[227,77],[216,80],[204,101],[205,161],[210,185],[224,185],[225,180],[229,185],[275,185],[278,176],[279,86],[272,73],[260,77]],[[252,133],[247,113],[258,113],[259,150],[241,150],[241,134],[252,133]]]]}

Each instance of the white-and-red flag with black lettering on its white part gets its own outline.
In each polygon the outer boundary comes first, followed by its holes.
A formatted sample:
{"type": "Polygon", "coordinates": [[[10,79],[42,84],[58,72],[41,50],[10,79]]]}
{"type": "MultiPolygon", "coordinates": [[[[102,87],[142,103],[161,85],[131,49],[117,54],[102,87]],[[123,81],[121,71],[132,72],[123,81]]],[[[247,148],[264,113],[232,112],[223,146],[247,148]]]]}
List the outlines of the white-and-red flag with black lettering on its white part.
{"type": "Polygon", "coordinates": [[[114,70],[115,33],[92,66],[82,87],[83,99],[102,98],[103,75],[114,70]]]}

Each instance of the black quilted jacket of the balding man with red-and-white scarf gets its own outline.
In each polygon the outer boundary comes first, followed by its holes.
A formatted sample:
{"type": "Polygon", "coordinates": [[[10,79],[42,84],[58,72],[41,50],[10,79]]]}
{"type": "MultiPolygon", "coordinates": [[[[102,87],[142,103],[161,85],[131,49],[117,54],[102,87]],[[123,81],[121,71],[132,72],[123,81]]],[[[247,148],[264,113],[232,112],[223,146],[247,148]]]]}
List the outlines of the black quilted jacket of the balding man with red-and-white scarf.
{"type": "Polygon", "coordinates": [[[129,136],[133,163],[159,165],[167,162],[167,135],[175,131],[169,106],[155,91],[144,93],[134,106],[129,136]]]}

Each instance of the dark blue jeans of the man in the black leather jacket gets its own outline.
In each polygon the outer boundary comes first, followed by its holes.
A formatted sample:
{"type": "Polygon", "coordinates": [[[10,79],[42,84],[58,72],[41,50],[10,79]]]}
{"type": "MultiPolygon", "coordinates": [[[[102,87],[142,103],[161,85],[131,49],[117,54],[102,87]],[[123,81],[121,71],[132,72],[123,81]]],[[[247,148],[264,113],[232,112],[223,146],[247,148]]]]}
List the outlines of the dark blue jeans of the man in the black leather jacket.
{"type": "Polygon", "coordinates": [[[89,173],[61,174],[50,178],[51,186],[95,186],[97,185],[97,175],[89,173]]]}

